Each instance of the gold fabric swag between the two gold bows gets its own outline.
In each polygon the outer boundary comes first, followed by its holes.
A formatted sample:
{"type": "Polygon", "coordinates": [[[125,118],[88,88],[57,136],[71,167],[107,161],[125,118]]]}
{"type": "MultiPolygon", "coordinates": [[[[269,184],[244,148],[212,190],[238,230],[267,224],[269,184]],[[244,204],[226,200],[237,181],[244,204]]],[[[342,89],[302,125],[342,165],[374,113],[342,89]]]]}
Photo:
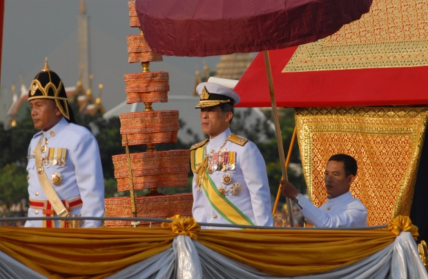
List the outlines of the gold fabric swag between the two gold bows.
{"type": "Polygon", "coordinates": [[[202,230],[209,249],[275,276],[304,276],[358,262],[391,244],[386,229],[202,230]]]}

